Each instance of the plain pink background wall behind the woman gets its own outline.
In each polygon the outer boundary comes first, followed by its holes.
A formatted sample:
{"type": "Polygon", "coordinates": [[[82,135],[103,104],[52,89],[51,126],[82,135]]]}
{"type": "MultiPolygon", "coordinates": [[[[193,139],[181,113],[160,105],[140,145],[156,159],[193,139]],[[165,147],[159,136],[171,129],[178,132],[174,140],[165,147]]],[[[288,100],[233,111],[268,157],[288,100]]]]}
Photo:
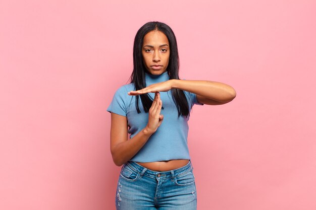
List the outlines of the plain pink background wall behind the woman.
{"type": "Polygon", "coordinates": [[[0,3],[0,209],[115,208],[106,109],[148,21],[181,78],[237,91],[191,113],[198,209],[316,209],[316,2],[126,2],[0,3]]]}

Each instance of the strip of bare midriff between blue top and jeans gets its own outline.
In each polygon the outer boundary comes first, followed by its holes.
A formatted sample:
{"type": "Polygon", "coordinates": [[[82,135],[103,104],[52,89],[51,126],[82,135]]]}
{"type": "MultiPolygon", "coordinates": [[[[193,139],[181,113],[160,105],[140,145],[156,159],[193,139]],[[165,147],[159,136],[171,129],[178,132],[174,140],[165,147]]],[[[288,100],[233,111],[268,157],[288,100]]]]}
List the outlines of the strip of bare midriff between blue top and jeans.
{"type": "Polygon", "coordinates": [[[148,163],[136,163],[152,171],[170,171],[187,165],[189,163],[189,160],[169,160],[148,163]]]}

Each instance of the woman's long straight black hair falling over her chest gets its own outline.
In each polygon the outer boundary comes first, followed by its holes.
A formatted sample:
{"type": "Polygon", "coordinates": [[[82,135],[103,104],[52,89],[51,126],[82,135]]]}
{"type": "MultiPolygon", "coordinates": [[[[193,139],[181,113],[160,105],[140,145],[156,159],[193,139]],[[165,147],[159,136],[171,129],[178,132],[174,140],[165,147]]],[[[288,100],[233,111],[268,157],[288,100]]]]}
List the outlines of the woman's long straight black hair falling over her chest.
{"type": "MultiPolygon", "coordinates": [[[[170,44],[170,56],[169,56],[169,64],[167,67],[167,72],[170,79],[179,80],[179,54],[178,54],[178,46],[176,36],[173,33],[172,29],[161,22],[148,22],[143,25],[136,33],[133,47],[133,63],[134,68],[131,75],[131,83],[134,83],[135,90],[140,90],[146,87],[145,82],[145,71],[147,71],[145,64],[143,63],[142,57],[142,45],[144,36],[153,30],[158,30],[163,32],[169,41],[170,44]]],[[[172,98],[175,102],[178,110],[178,116],[188,116],[189,113],[189,104],[185,97],[185,94],[180,89],[171,89],[172,98]]],[[[139,97],[144,107],[144,111],[148,112],[151,107],[152,100],[149,98],[148,94],[141,94],[136,96],[136,109],[137,113],[140,113],[139,109],[139,97]]]]}

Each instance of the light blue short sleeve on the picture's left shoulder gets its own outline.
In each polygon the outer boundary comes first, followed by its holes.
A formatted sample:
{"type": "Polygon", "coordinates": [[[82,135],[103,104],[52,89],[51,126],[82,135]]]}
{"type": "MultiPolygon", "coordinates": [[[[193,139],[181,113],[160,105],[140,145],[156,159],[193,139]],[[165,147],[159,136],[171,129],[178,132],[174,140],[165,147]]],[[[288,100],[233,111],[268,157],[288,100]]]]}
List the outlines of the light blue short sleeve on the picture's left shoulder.
{"type": "Polygon", "coordinates": [[[108,112],[113,112],[122,116],[127,116],[126,114],[126,98],[127,92],[124,86],[119,88],[112,99],[110,106],[108,107],[108,112]]]}

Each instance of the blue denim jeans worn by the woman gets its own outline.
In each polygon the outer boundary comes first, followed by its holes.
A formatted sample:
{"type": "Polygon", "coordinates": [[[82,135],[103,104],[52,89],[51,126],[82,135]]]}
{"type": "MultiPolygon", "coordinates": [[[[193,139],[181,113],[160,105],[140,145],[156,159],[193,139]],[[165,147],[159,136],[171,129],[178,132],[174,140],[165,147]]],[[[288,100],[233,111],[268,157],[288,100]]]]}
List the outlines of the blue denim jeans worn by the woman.
{"type": "Polygon", "coordinates": [[[170,171],[152,171],[135,162],[122,166],[116,191],[117,210],[196,210],[191,161],[170,171]]]}

